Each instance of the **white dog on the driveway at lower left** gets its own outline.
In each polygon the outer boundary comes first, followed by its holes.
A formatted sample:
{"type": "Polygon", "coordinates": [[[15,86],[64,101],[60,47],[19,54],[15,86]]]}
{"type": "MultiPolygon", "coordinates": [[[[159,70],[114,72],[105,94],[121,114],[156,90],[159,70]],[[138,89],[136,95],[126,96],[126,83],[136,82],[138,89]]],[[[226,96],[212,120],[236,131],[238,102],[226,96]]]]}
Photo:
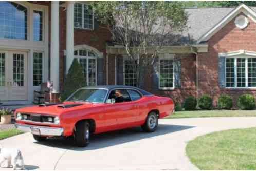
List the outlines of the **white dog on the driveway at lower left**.
{"type": "Polygon", "coordinates": [[[8,167],[13,167],[16,170],[17,165],[24,169],[24,161],[21,151],[17,148],[0,148],[0,167],[3,162],[8,161],[8,167]]]}

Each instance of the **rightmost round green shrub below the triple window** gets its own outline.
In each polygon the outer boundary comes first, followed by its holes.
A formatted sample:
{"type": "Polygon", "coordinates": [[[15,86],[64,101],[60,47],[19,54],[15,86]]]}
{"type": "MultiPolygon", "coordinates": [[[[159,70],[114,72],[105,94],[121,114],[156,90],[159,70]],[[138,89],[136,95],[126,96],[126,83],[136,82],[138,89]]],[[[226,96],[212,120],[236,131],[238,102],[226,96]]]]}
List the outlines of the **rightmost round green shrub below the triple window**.
{"type": "Polygon", "coordinates": [[[237,100],[237,106],[242,110],[252,110],[255,108],[255,98],[251,94],[243,94],[237,100]]]}

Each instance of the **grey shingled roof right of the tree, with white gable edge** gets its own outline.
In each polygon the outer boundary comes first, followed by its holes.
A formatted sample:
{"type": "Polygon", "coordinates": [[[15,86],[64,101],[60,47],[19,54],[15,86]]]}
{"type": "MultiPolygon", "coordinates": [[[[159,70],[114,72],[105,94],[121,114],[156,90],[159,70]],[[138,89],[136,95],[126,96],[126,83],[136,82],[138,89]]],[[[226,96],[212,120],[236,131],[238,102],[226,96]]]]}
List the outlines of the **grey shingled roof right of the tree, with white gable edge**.
{"type": "Polygon", "coordinates": [[[185,9],[189,14],[188,29],[182,33],[190,42],[200,43],[209,38],[231,21],[237,14],[243,12],[256,22],[256,7],[247,7],[242,4],[239,7],[219,8],[189,8],[185,9]]]}

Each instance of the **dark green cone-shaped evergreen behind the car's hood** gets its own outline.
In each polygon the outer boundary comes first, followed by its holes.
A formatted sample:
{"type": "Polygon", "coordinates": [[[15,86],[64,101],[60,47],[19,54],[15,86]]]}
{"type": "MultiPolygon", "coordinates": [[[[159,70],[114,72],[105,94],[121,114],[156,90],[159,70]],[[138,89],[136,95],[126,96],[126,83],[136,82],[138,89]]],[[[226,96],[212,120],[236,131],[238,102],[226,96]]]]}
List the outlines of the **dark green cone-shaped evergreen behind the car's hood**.
{"type": "Polygon", "coordinates": [[[74,91],[84,86],[86,86],[86,81],[83,75],[83,68],[75,58],[66,75],[60,100],[66,100],[74,91]]]}

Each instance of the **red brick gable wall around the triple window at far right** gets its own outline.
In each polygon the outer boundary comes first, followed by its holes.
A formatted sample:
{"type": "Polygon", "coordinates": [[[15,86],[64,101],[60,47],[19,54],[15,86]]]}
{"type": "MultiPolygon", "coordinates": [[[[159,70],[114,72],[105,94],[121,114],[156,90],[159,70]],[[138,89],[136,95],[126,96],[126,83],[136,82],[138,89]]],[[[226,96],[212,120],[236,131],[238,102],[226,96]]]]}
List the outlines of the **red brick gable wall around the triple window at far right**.
{"type": "Polygon", "coordinates": [[[234,105],[240,94],[256,94],[256,89],[245,90],[218,87],[218,53],[240,49],[256,51],[256,23],[248,18],[248,26],[241,30],[235,26],[234,20],[235,18],[211,37],[208,41],[209,48],[207,53],[198,54],[198,92],[199,94],[210,94],[214,99],[214,105],[216,105],[217,98],[222,93],[230,94],[234,99],[234,105]]]}

